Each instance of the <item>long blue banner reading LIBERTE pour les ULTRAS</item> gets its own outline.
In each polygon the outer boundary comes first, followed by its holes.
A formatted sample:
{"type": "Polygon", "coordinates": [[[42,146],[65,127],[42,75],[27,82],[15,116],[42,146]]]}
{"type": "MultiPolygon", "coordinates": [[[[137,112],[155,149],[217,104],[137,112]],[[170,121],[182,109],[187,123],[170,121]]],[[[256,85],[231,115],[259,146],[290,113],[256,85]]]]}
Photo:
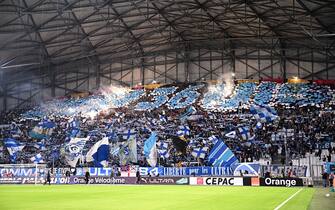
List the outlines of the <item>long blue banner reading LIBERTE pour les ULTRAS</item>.
{"type": "Polygon", "coordinates": [[[140,167],[141,176],[232,176],[230,167],[140,167]]]}

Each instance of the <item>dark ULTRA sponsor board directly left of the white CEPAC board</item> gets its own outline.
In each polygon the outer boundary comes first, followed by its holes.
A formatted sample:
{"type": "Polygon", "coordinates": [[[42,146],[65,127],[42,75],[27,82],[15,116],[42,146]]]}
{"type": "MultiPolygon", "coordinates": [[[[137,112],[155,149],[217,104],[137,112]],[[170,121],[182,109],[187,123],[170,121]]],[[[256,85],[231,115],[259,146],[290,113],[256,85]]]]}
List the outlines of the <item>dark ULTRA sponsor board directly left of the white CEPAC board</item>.
{"type": "Polygon", "coordinates": [[[141,177],[140,184],[188,185],[188,177],[141,177]]]}

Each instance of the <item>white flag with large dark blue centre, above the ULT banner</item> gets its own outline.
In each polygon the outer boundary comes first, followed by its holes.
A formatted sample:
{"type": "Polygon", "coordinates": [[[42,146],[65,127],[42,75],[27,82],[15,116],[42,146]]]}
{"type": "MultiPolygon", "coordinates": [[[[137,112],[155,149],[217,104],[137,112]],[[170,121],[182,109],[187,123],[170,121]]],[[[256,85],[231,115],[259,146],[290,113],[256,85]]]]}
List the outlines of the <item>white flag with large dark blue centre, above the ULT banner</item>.
{"type": "Polygon", "coordinates": [[[108,137],[103,138],[93,145],[86,154],[87,162],[94,162],[95,167],[107,167],[109,158],[108,137]]]}

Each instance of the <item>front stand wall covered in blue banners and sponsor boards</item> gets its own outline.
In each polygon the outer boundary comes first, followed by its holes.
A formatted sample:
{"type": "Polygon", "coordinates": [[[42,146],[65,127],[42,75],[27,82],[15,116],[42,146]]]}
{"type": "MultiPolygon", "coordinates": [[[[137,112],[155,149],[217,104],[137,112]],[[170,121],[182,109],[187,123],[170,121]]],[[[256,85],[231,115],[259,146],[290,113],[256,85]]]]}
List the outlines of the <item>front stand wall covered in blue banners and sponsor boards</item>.
{"type": "MultiPolygon", "coordinates": [[[[228,173],[218,167],[120,167],[120,168],[44,168],[36,166],[2,165],[0,184],[43,184],[47,171],[52,184],[86,184],[85,174],[90,173],[90,184],[150,184],[150,185],[219,185],[219,186],[278,186],[311,185],[310,178],[260,177],[259,164],[243,163],[228,173]],[[244,176],[241,170],[247,172],[244,176]],[[112,173],[120,172],[120,176],[112,173]],[[137,171],[139,174],[137,176],[137,171]],[[70,176],[67,173],[70,172],[70,176]]],[[[300,176],[302,177],[302,176],[300,176]]]]}

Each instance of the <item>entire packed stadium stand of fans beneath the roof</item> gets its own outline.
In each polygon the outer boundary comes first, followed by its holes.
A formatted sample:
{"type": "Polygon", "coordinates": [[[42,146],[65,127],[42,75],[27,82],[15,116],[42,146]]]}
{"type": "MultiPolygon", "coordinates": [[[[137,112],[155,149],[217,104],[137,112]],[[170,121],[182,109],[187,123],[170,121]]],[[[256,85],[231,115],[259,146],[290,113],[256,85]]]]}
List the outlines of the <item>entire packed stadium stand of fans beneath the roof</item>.
{"type": "Polygon", "coordinates": [[[334,161],[334,89],[235,83],[233,88],[225,83],[181,83],[153,90],[113,86],[87,97],[2,114],[1,139],[24,147],[11,155],[10,148],[1,145],[0,162],[74,167],[78,161],[78,166],[94,166],[84,156],[108,138],[108,165],[148,166],[143,148],[152,132],[158,135],[162,166],[211,165],[208,156],[217,139],[224,140],[240,162],[310,166],[334,161]],[[270,106],[274,112],[259,111],[270,106]],[[86,137],[79,160],[71,162],[69,143],[86,137]],[[136,152],[128,143],[133,137],[136,152]]]}

